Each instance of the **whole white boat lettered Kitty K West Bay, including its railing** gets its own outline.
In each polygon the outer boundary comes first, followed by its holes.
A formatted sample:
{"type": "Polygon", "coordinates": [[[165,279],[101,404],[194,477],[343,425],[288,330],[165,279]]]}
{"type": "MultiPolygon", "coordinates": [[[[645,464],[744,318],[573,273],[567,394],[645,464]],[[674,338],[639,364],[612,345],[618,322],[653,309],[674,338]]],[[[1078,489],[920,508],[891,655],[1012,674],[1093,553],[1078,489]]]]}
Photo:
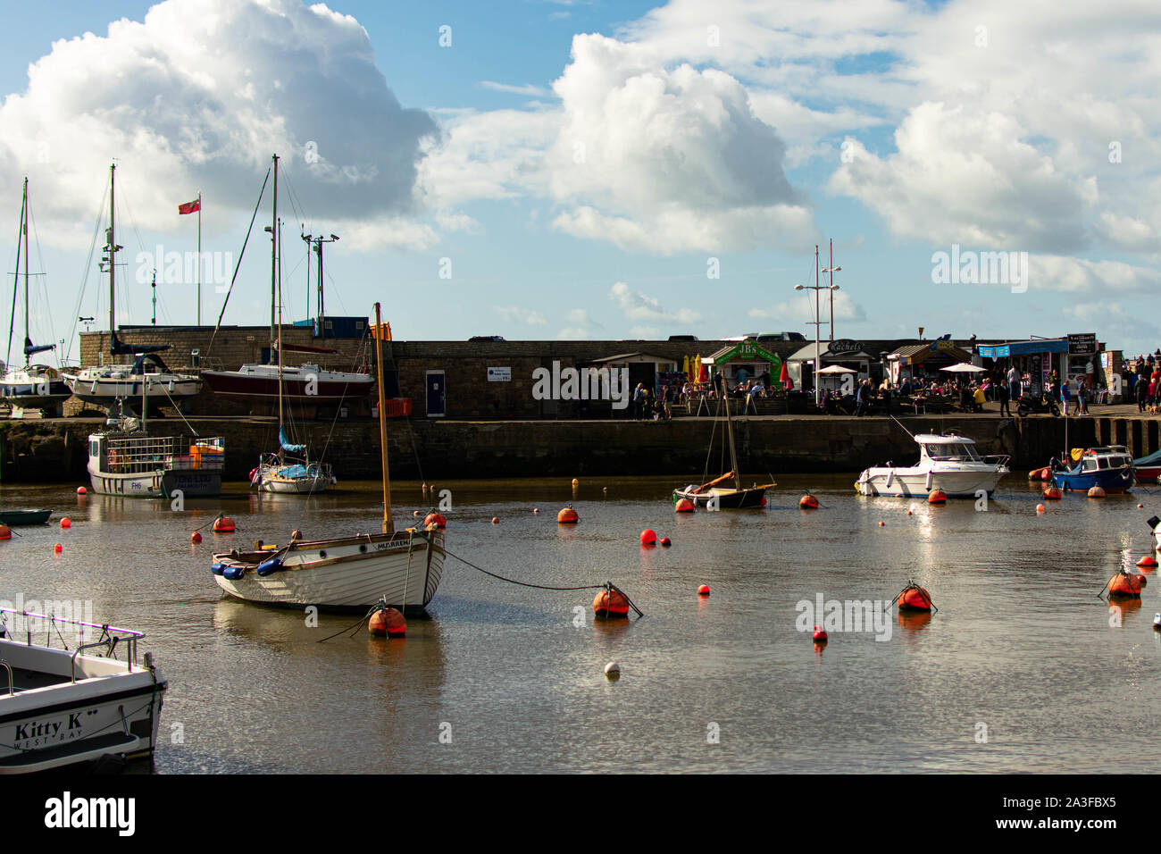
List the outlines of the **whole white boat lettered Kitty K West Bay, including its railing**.
{"type": "Polygon", "coordinates": [[[0,774],[151,756],[166,682],[150,653],[137,662],[144,637],[0,608],[0,774]],[[51,646],[74,632],[73,650],[51,646]]]}

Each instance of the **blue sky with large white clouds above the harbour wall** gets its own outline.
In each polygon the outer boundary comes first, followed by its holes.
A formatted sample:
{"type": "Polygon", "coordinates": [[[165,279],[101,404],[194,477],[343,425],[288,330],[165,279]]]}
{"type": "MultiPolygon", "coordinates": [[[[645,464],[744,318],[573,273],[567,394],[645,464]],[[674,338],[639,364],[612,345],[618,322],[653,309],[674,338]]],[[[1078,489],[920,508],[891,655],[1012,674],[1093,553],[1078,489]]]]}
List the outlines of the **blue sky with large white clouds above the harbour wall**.
{"type": "MultiPolygon", "coordinates": [[[[1161,343],[1148,5],[6,7],[0,257],[10,273],[28,174],[38,340],[98,308],[86,258],[111,158],[118,322],[147,323],[142,257],[194,249],[176,204],[201,189],[203,250],[237,258],[277,151],[291,317],[302,224],[341,238],[327,311],[381,300],[402,338],[809,333],[793,286],[832,238],[841,337],[1161,343]],[[933,281],[954,246],[1003,252],[1022,280],[933,281]]],[[[268,318],[268,222],[267,199],[228,323],[268,318]]],[[[171,279],[158,321],[192,322],[195,288],[171,279]]],[[[221,294],[202,299],[216,317],[221,294]]]]}

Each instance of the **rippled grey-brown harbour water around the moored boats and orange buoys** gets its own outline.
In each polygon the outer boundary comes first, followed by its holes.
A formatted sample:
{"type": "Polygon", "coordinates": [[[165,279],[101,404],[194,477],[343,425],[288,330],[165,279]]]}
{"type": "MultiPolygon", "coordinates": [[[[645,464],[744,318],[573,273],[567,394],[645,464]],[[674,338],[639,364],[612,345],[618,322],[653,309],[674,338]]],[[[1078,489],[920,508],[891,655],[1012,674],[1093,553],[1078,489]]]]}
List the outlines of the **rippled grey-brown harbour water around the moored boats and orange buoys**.
{"type": "MultiPolygon", "coordinates": [[[[594,623],[594,590],[517,587],[453,559],[431,618],[409,620],[402,640],[356,627],[319,643],[358,615],[313,626],[219,595],[212,551],[294,528],[377,531],[377,483],[305,500],[236,485],[181,512],[5,485],[3,507],[56,512],[0,543],[0,598],[91,602],[98,622],[146,632],[170,681],[163,774],[1158,767],[1161,581],[1140,603],[1097,597],[1148,552],[1155,489],[1070,494],[1037,515],[1039,490],[1019,474],[986,509],[859,497],[853,474],[777,479],[765,510],[697,515],[673,514],[684,482],[670,478],[584,479],[576,493],[561,479],[435,485],[450,491],[453,555],[545,586],[611,580],[641,619],[594,623]],[[798,509],[808,488],[823,509],[798,509]],[[557,525],[565,504],[579,525],[557,525]],[[219,510],[237,533],[190,544],[219,510]],[[642,548],[644,528],[672,547],[642,548]],[[909,577],[937,613],[893,610],[821,650],[800,631],[821,622],[806,612],[820,597],[886,602],[909,577]],[[610,682],[613,660],[622,675],[610,682]]],[[[401,528],[430,504],[418,483],[394,496],[401,528]]]]}

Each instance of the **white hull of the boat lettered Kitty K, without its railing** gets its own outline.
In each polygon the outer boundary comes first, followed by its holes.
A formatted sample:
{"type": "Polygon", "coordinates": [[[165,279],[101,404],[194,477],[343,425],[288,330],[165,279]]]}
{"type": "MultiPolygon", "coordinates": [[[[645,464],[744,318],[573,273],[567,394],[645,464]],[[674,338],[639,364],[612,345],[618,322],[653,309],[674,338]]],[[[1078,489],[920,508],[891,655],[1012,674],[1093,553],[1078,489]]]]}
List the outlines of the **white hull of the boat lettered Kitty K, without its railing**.
{"type": "MultiPolygon", "coordinates": [[[[72,653],[0,639],[0,658],[19,672],[67,674],[72,653]],[[53,655],[55,654],[55,655],[53,655]],[[57,660],[53,660],[57,659],[57,660]],[[49,660],[46,667],[42,663],[49,660]]],[[[107,659],[79,656],[78,667],[110,670],[107,659]],[[95,662],[95,663],[94,663],[95,662]]],[[[121,667],[121,662],[114,662],[121,667]]],[[[143,668],[0,695],[0,774],[29,774],[153,753],[166,682],[143,668]]],[[[0,672],[0,677],[6,677],[0,672]]]]}

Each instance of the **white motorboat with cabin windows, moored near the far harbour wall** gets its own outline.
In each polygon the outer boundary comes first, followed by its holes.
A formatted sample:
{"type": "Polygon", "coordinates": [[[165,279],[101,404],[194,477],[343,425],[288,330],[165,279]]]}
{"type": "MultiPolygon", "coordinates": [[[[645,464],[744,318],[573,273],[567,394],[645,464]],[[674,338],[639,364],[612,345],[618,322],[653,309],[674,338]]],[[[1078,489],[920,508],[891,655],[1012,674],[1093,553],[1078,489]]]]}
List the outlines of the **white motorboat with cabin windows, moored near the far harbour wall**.
{"type": "Polygon", "coordinates": [[[909,467],[867,468],[854,483],[859,495],[926,496],[942,490],[949,498],[991,495],[1000,479],[1008,474],[1008,457],[980,457],[975,440],[956,433],[918,433],[918,464],[909,467]]]}

